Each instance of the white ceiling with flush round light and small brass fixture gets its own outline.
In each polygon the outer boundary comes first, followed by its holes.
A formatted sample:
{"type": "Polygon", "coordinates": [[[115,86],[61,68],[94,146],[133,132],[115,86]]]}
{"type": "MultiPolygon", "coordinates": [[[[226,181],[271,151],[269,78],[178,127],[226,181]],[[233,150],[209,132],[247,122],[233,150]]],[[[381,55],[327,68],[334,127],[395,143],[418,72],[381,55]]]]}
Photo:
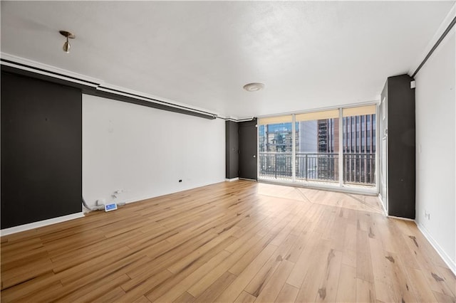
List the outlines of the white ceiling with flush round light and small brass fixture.
{"type": "Polygon", "coordinates": [[[1,1],[1,51],[243,118],[377,100],[454,4],[1,1]],[[59,30],[76,34],[70,54],[59,30]]]}

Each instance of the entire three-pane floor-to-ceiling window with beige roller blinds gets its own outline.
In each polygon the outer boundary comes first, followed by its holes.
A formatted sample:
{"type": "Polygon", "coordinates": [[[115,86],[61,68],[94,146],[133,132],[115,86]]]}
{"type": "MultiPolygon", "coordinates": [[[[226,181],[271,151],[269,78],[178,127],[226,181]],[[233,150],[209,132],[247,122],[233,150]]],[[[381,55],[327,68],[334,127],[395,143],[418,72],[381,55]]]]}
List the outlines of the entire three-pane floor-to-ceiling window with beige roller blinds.
{"type": "Polygon", "coordinates": [[[259,179],[375,188],[375,105],[259,119],[259,179]]]}

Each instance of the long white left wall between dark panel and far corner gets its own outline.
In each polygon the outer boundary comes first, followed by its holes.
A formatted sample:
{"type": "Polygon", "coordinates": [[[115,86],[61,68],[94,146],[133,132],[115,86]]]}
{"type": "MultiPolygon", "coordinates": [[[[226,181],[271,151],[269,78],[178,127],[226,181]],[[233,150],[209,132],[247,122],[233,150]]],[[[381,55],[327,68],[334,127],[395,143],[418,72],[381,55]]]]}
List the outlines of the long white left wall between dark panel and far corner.
{"type": "Polygon", "coordinates": [[[224,149],[222,119],[83,95],[83,197],[90,206],[224,181],[224,149]]]}

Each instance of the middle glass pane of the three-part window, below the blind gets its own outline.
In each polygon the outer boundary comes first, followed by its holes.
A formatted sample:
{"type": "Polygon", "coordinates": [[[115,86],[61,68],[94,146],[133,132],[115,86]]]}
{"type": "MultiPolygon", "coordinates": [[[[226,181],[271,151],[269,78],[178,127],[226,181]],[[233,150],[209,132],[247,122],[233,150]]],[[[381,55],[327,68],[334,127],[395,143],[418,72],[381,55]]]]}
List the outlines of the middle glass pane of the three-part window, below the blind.
{"type": "Polygon", "coordinates": [[[296,122],[296,181],[338,182],[338,120],[296,122]]]}

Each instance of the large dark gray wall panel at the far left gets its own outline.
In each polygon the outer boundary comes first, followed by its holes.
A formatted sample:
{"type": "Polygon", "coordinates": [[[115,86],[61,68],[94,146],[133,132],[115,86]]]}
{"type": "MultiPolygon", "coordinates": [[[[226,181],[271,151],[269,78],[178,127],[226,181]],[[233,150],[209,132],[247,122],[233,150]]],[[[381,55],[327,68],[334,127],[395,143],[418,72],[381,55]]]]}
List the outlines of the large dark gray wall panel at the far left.
{"type": "Polygon", "coordinates": [[[1,228],[82,211],[82,93],[1,73],[1,228]]]}

